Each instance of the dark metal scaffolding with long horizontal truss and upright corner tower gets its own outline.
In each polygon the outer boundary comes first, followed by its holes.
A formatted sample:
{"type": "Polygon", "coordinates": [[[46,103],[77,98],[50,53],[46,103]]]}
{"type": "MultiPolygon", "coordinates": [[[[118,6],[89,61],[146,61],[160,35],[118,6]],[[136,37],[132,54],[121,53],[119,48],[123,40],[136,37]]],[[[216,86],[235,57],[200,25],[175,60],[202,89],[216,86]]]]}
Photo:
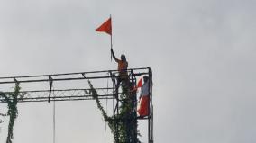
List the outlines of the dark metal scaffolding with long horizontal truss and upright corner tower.
{"type": "MultiPolygon", "coordinates": [[[[150,67],[144,68],[130,68],[127,69],[129,82],[131,85],[135,86],[137,81],[136,77],[139,76],[149,76],[150,81],[152,80],[152,72],[150,67]]],[[[116,76],[118,75],[117,70],[103,70],[103,71],[93,71],[93,72],[78,72],[78,73],[67,73],[67,74],[51,74],[51,75],[37,75],[37,76],[9,76],[0,77],[0,85],[5,86],[3,93],[11,93],[8,91],[10,87],[19,83],[22,87],[27,86],[30,90],[20,91],[20,96],[18,97],[18,103],[27,102],[51,102],[51,101],[78,101],[78,100],[94,100],[92,94],[90,93],[90,88],[87,83],[82,83],[81,81],[90,80],[92,82],[96,81],[98,83],[103,83],[103,80],[109,80],[112,84],[107,86],[99,84],[99,87],[95,87],[98,94],[98,99],[111,100],[113,103],[113,117],[119,114],[121,93],[118,93],[118,87],[116,84],[116,76]],[[79,83],[72,83],[78,81],[79,83]],[[64,85],[63,85],[64,83],[64,85]],[[62,85],[63,86],[62,86],[62,85]],[[32,87],[31,87],[32,85],[32,87]],[[33,87],[37,85],[37,87],[33,87]],[[56,85],[56,86],[55,86],[56,85]],[[65,86],[66,85],[66,86],[65,86]],[[74,88],[68,88],[67,85],[73,85],[74,88]],[[78,87],[79,86],[79,87],[78,87]],[[86,87],[87,86],[87,87],[86,87]],[[86,87],[86,88],[85,88],[86,87]],[[32,89],[33,90],[32,90],[32,89]],[[34,90],[36,89],[36,90],[34,90]],[[53,95],[54,93],[54,95],[53,95]]],[[[151,85],[150,85],[151,86],[151,85]]],[[[137,120],[148,121],[148,143],[153,143],[153,103],[152,103],[152,91],[150,90],[150,103],[149,103],[149,115],[143,118],[137,117],[136,107],[137,107],[137,92],[133,93],[133,115],[135,118],[130,118],[130,125],[136,126],[137,130],[137,120]],[[132,121],[131,121],[132,120],[132,121]],[[132,123],[132,124],[131,124],[132,123]]],[[[5,103],[5,100],[0,97],[0,103],[5,103]]],[[[120,119],[114,118],[114,143],[121,143],[116,140],[119,133],[118,121],[120,119]]],[[[127,131],[129,134],[129,131],[127,131]]],[[[135,143],[137,138],[136,135],[131,135],[131,140],[128,143],[135,143]]]]}

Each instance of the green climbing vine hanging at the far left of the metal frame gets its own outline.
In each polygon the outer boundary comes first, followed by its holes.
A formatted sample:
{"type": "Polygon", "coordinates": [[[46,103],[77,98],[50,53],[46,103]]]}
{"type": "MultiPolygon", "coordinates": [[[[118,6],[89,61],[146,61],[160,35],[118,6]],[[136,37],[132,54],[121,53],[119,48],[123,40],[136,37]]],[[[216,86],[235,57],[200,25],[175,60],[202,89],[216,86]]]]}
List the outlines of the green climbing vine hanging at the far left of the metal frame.
{"type": "Polygon", "coordinates": [[[8,112],[6,114],[2,114],[2,116],[9,116],[9,125],[8,125],[8,136],[6,139],[6,143],[12,143],[12,139],[14,139],[14,121],[18,116],[18,95],[20,94],[20,86],[16,84],[14,87],[14,92],[10,93],[2,93],[0,92],[0,97],[3,98],[3,102],[8,105],[8,112]]]}

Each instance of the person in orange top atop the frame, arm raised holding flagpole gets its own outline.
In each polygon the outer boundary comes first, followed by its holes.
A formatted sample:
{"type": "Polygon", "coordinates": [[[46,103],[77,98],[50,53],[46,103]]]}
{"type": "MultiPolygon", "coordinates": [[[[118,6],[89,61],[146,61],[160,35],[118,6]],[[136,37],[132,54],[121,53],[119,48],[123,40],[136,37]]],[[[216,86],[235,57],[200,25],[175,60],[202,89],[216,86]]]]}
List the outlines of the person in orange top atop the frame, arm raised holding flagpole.
{"type": "Polygon", "coordinates": [[[128,62],[125,58],[125,55],[121,55],[121,59],[118,59],[114,56],[114,51],[113,49],[111,49],[111,55],[114,58],[114,61],[118,64],[117,70],[119,72],[118,76],[117,76],[117,84],[116,84],[116,92],[118,93],[118,88],[120,83],[124,83],[127,84],[128,82],[128,72],[127,72],[127,68],[128,68],[128,62]]]}

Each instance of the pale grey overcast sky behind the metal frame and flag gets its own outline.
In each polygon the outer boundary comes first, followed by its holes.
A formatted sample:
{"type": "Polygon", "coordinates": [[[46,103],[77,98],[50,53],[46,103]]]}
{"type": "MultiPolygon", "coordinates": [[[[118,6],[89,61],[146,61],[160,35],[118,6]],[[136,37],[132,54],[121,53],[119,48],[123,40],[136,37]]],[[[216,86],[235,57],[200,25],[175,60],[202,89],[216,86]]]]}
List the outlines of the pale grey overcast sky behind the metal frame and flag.
{"type": "MultiPolygon", "coordinates": [[[[115,54],[153,70],[156,143],[253,143],[255,7],[255,0],[0,0],[0,76],[115,69],[109,36],[95,31],[112,14],[115,54]]],[[[56,143],[104,142],[96,103],[56,106],[56,143]]],[[[52,103],[18,107],[14,143],[51,143],[52,103]]],[[[6,120],[0,127],[5,143],[6,120]]]]}

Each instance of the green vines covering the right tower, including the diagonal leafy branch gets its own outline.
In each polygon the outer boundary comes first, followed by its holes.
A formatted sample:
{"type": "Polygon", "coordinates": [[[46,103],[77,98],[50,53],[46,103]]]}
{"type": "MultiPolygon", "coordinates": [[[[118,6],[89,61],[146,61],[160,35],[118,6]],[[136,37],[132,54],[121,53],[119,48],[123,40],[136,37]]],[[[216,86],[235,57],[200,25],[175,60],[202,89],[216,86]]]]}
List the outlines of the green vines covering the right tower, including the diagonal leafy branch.
{"type": "Polygon", "coordinates": [[[96,93],[95,88],[90,81],[88,81],[88,84],[90,86],[90,92],[87,94],[92,94],[93,98],[96,100],[98,109],[104,117],[104,120],[108,123],[112,132],[115,132],[114,143],[140,143],[140,140],[137,138],[139,133],[137,130],[137,121],[135,120],[137,116],[136,108],[134,108],[133,105],[134,102],[131,98],[132,94],[129,92],[129,86],[121,85],[122,94],[119,99],[121,102],[119,105],[119,113],[115,116],[109,117],[98,99],[98,94],[96,93]]]}

